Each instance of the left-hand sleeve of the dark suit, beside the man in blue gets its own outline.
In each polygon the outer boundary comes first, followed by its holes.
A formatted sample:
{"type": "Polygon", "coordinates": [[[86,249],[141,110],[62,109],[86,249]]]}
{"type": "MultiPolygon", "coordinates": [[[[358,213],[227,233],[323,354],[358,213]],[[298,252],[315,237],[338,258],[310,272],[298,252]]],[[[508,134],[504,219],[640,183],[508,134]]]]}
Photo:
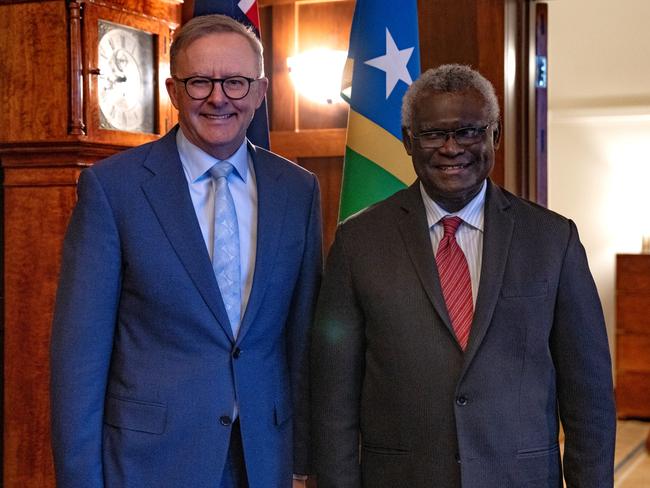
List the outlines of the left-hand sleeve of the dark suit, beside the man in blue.
{"type": "Polygon", "coordinates": [[[359,411],[364,321],[339,228],[312,336],[312,431],[318,488],[360,488],[359,411]]]}

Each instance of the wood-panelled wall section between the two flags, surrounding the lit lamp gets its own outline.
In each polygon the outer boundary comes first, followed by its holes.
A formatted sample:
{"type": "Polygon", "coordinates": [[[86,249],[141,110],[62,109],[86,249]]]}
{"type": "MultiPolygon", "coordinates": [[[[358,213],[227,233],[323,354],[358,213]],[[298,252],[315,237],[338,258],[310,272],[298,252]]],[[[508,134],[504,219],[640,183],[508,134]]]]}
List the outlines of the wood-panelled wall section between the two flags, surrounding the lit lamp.
{"type": "Polygon", "coordinates": [[[318,176],[325,249],[338,220],[348,106],[318,104],[298,94],[287,58],[320,47],[347,51],[354,5],[352,0],[260,1],[264,61],[271,80],[271,149],[318,176]]]}

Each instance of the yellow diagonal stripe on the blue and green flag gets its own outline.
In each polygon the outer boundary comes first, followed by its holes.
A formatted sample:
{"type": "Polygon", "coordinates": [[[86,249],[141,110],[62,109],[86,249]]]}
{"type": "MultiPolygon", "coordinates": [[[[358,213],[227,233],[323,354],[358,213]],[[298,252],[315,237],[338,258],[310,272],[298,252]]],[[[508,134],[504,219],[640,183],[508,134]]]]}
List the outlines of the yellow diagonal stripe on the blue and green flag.
{"type": "Polygon", "coordinates": [[[363,115],[350,110],[347,146],[373,161],[405,185],[415,181],[411,157],[402,141],[363,115]]]}

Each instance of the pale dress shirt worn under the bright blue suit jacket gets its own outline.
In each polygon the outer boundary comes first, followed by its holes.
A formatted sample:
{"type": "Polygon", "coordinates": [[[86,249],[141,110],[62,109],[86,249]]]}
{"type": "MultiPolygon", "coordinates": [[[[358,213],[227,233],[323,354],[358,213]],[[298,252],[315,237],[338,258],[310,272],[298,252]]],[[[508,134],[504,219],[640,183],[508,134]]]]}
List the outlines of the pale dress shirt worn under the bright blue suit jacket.
{"type": "MultiPolygon", "coordinates": [[[[235,202],[237,225],[239,227],[239,259],[241,265],[241,317],[248,304],[253,274],[255,272],[255,253],[257,249],[257,184],[253,161],[248,154],[247,139],[239,149],[227,158],[235,170],[228,176],[228,188],[235,202]]],[[[178,154],[183,163],[183,172],[201,227],[203,240],[212,259],[214,237],[214,185],[208,170],[219,159],[192,144],[179,128],[176,133],[178,154]]]]}

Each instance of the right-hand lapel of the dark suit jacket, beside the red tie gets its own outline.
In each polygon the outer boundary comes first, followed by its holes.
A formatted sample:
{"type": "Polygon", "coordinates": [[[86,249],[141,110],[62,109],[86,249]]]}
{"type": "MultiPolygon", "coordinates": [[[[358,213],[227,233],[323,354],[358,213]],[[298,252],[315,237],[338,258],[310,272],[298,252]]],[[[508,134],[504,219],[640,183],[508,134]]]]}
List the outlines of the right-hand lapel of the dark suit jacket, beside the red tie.
{"type": "Polygon", "coordinates": [[[465,351],[465,368],[476,354],[501,293],[514,220],[508,213],[510,203],[499,187],[488,180],[485,197],[485,227],[483,233],[483,259],[476,309],[469,344],[465,351]]]}

